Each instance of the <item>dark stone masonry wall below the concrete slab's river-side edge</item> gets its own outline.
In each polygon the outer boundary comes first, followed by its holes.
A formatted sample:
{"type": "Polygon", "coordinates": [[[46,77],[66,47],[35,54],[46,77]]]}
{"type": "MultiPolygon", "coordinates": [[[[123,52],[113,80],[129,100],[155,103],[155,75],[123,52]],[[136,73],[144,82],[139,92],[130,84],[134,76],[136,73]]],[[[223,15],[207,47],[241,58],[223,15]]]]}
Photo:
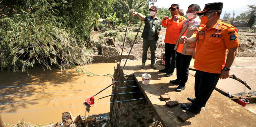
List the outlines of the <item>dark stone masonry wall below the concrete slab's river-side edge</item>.
{"type": "MultiPolygon", "coordinates": [[[[124,76],[121,69],[115,67],[115,80],[134,80],[133,74],[129,76],[124,76]]],[[[113,88],[117,87],[131,87],[138,86],[136,81],[126,81],[126,82],[116,82],[113,88]]],[[[132,100],[145,98],[139,87],[132,88],[118,88],[113,89],[114,93],[127,93],[127,92],[137,92],[128,94],[118,94],[111,96],[110,101],[121,101],[121,100],[131,100],[110,103],[110,127],[148,127],[153,122],[155,122],[156,115],[153,108],[146,99],[132,100]],[[113,108],[112,108],[113,107],[113,108]],[[112,108],[112,109],[111,109],[112,108]]]]}

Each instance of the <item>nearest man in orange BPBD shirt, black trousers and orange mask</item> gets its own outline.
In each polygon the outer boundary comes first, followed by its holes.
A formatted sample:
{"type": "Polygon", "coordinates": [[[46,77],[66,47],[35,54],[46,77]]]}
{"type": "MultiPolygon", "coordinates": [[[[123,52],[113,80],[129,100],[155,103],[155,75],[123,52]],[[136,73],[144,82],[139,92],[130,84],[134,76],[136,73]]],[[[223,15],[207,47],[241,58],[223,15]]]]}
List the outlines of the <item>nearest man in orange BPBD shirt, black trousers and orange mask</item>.
{"type": "Polygon", "coordinates": [[[219,79],[226,79],[239,47],[238,31],[230,24],[222,23],[220,14],[223,3],[205,4],[201,24],[190,38],[182,36],[180,43],[196,43],[195,52],[195,98],[188,97],[191,105],[181,104],[187,111],[200,113],[211,96],[219,79]],[[228,54],[227,54],[228,49],[228,54]],[[227,58],[227,59],[226,59],[227,58]],[[225,63],[226,61],[226,63],[225,63]]]}

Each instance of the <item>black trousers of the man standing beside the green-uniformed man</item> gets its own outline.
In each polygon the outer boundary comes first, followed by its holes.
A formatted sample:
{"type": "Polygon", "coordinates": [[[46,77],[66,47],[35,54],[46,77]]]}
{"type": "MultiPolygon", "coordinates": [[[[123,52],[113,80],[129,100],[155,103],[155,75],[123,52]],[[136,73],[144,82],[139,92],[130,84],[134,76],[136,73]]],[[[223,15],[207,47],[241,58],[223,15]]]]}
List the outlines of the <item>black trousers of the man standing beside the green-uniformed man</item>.
{"type": "Polygon", "coordinates": [[[175,44],[164,44],[165,50],[165,69],[173,73],[176,66],[176,53],[174,50],[175,44]]]}

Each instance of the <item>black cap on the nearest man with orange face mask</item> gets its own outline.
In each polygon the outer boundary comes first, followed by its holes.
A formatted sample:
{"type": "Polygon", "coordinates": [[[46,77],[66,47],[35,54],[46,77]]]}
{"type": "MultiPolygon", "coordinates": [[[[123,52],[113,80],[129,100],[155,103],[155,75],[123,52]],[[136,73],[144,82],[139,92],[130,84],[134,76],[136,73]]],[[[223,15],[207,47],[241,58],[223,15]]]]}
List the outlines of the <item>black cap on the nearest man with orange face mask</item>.
{"type": "Polygon", "coordinates": [[[222,10],[223,8],[223,3],[218,2],[218,3],[207,3],[204,5],[204,10],[197,12],[198,15],[203,15],[205,12],[209,10],[222,10]]]}

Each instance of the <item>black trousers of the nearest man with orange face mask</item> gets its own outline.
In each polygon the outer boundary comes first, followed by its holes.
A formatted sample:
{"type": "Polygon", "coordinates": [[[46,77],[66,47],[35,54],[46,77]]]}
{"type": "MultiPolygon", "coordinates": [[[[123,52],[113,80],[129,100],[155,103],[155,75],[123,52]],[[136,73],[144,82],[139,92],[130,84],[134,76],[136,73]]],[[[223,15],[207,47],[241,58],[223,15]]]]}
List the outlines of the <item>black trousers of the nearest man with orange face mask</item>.
{"type": "Polygon", "coordinates": [[[210,98],[215,86],[218,83],[220,74],[195,71],[195,102],[196,107],[203,107],[210,98]]]}

